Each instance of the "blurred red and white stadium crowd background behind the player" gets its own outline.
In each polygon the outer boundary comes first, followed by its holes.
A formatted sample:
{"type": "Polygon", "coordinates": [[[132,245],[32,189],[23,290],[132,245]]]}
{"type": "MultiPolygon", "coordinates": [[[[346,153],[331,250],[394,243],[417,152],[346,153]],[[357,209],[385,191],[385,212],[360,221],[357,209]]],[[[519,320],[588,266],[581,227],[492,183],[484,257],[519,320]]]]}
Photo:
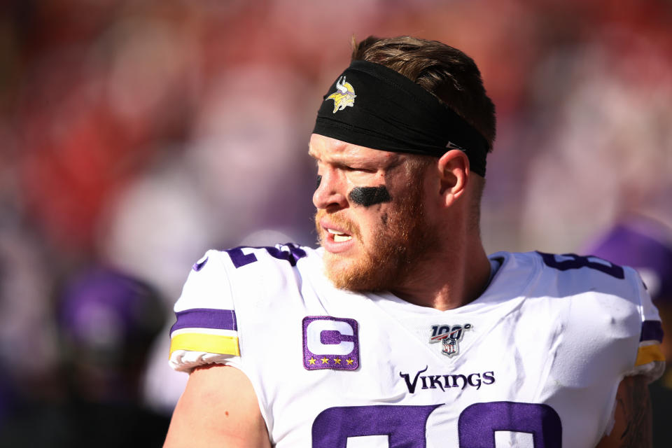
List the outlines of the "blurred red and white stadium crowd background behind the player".
{"type": "Polygon", "coordinates": [[[351,36],[372,34],[479,65],[498,115],[488,251],[672,223],[670,0],[4,0],[0,426],[78,446],[83,415],[104,431],[134,409],[162,439],[191,265],[314,245],[309,133],[351,36]]]}

